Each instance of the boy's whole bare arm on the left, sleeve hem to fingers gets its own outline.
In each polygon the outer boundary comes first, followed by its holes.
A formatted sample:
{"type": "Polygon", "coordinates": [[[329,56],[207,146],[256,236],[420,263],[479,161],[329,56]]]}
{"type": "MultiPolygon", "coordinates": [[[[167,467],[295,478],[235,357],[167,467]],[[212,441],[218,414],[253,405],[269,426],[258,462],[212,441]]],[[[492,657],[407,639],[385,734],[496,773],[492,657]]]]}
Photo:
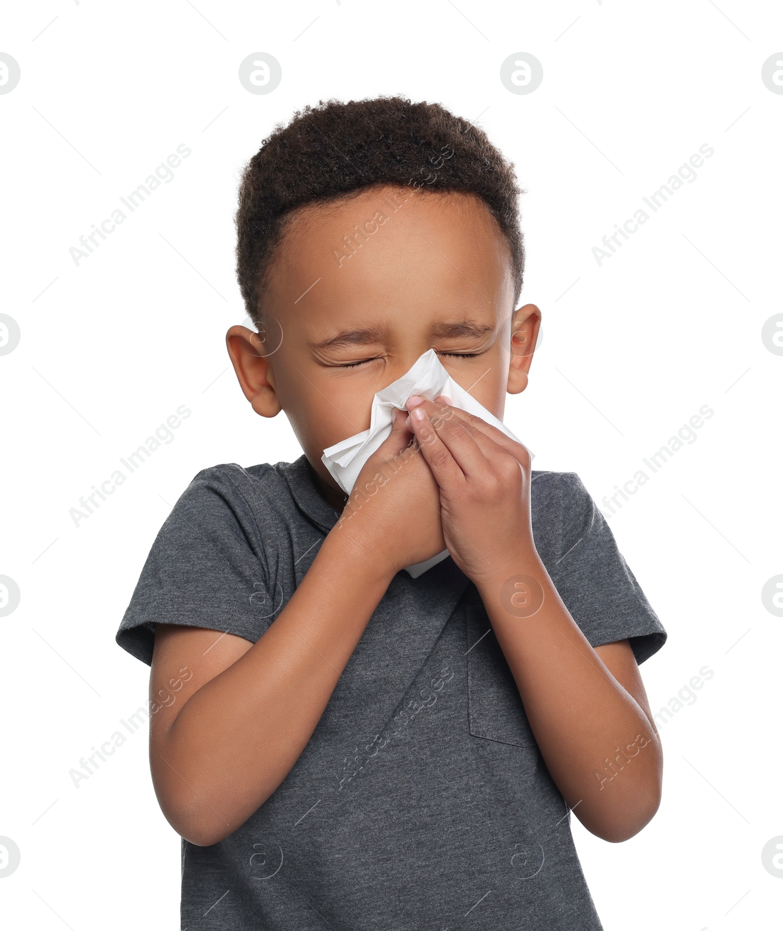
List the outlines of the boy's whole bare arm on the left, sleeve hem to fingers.
{"type": "Polygon", "coordinates": [[[191,843],[223,840],[278,788],[394,574],[444,548],[437,485],[420,452],[405,449],[404,423],[398,412],[357,482],[375,479],[378,492],[361,505],[351,496],[256,643],[158,624],[150,690],[160,707],[150,720],[150,766],[163,814],[191,843]],[[397,471],[387,484],[380,476],[393,474],[392,456],[397,471]],[[424,508],[432,518],[422,519],[421,496],[433,505],[424,508]],[[159,697],[172,694],[168,704],[159,697]]]}

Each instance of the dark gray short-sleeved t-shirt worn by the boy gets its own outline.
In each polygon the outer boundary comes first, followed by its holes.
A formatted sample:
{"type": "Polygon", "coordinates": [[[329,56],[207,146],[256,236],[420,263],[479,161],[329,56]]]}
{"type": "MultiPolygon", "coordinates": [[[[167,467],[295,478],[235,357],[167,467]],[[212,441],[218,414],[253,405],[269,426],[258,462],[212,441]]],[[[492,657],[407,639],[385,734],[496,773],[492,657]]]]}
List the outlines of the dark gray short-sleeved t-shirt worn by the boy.
{"type": "MultiPolygon", "coordinates": [[[[538,552],[593,646],[666,632],[571,472],[532,473],[538,552]]],[[[155,540],[117,642],[155,625],[257,641],[337,511],[295,463],[204,469],[155,540]]],[[[570,833],[478,592],[450,558],[392,579],[307,747],[225,841],[183,841],[188,931],[600,931],[570,833]]]]}

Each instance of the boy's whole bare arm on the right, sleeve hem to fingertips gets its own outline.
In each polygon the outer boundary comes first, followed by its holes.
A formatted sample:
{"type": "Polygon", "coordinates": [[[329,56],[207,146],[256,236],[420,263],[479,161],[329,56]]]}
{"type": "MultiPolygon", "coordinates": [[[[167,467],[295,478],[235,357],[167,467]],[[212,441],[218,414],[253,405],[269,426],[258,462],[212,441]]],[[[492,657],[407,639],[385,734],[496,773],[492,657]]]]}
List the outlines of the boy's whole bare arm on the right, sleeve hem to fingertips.
{"type": "Polygon", "coordinates": [[[544,762],[587,830],[627,840],[655,814],[663,771],[630,646],[594,650],[560,599],[533,542],[525,447],[447,404],[412,400],[446,544],[484,601],[544,762]]]}

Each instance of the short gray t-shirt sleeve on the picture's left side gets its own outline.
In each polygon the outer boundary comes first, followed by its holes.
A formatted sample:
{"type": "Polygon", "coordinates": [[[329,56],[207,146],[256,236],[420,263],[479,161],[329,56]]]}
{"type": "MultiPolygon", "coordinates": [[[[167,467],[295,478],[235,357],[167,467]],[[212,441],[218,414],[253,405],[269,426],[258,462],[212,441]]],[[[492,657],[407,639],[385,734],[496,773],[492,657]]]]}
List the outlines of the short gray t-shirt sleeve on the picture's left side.
{"type": "Polygon", "coordinates": [[[215,469],[199,472],[160,528],[117,643],[151,664],[158,623],[257,641],[275,614],[258,537],[253,512],[230,479],[215,469]]]}

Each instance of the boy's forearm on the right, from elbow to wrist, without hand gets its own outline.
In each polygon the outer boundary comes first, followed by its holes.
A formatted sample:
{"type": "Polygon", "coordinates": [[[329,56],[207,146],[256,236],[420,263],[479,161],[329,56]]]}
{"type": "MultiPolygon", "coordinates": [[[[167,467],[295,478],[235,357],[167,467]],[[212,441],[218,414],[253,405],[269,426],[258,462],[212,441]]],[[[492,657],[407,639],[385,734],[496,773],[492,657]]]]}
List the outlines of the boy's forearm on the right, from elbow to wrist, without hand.
{"type": "Polygon", "coordinates": [[[585,639],[532,546],[502,578],[478,587],[566,802],[598,836],[632,836],[660,799],[662,754],[652,722],[585,639]],[[527,588],[535,597],[535,586],[523,581],[525,588],[515,588],[516,575],[541,586],[543,603],[529,616],[524,602],[527,588]]]}

